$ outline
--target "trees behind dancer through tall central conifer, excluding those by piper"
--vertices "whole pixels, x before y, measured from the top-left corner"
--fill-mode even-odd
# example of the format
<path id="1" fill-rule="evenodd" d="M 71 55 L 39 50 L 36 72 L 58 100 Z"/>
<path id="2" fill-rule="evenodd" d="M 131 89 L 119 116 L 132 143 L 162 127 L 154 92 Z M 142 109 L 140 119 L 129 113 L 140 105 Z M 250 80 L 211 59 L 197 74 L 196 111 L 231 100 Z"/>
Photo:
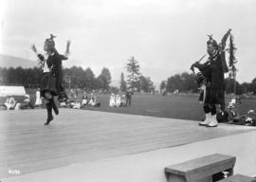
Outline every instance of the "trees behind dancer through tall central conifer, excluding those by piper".
<path id="1" fill-rule="evenodd" d="M 81 66 L 72 66 L 63 69 L 63 84 L 68 88 L 82 88 L 85 90 L 102 91 L 143 91 L 155 90 L 154 83 L 149 77 L 140 73 L 140 66 L 134 57 L 126 63 L 127 79 L 124 73 L 120 75 L 118 87 L 111 86 L 112 77 L 108 68 L 103 67 L 101 74 L 97 77 L 90 67 L 83 69 Z M 0 67 L 0 84 L 2 85 L 24 85 L 25 87 L 39 87 L 42 78 L 42 69 L 39 67 L 23 68 L 21 66 Z"/>

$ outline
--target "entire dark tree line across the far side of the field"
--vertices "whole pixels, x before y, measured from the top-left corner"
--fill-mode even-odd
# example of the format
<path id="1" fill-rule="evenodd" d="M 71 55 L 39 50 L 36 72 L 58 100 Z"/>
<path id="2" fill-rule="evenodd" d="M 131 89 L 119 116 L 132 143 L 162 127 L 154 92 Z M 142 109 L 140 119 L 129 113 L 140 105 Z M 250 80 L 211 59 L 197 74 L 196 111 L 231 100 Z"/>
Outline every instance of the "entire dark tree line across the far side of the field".
<path id="1" fill-rule="evenodd" d="M 63 83 L 65 87 L 76 87 L 85 90 L 104 90 L 109 91 L 127 91 L 133 92 L 153 92 L 155 91 L 154 82 L 150 77 L 145 77 L 140 72 L 140 66 L 135 59 L 131 57 L 126 63 L 127 76 L 125 79 L 124 73 L 120 74 L 120 82 L 118 87 L 110 85 L 112 82 L 111 73 L 108 68 L 103 67 L 101 74 L 96 77 L 90 67 L 83 69 L 81 66 L 72 66 L 64 68 Z M 0 84 L 21 84 L 25 87 L 37 86 L 39 87 L 42 78 L 42 69 L 39 67 L 22 68 L 22 67 L 0 67 Z M 256 78 L 252 82 L 243 82 L 240 84 L 235 80 L 235 77 L 229 75 L 225 80 L 226 92 L 235 94 L 256 93 Z M 195 75 L 187 72 L 175 74 L 162 81 L 160 84 L 161 92 L 198 92 L 198 85 L 195 82 Z"/>

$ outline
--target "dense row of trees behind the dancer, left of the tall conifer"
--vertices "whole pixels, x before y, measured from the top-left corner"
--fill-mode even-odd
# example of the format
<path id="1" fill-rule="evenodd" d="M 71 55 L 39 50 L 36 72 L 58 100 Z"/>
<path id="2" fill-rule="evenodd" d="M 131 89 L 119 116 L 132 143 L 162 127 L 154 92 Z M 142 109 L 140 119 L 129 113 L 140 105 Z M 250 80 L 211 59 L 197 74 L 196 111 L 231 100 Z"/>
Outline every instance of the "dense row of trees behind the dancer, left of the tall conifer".
<path id="1" fill-rule="evenodd" d="M 78 87 L 86 89 L 108 90 L 111 82 L 111 74 L 108 68 L 103 67 L 101 74 L 96 77 L 90 67 L 85 70 L 80 66 L 64 68 L 63 83 L 65 87 Z M 39 87 L 42 78 L 42 69 L 39 67 L 17 68 L 0 67 L 0 84 L 24 85 L 25 87 Z"/>

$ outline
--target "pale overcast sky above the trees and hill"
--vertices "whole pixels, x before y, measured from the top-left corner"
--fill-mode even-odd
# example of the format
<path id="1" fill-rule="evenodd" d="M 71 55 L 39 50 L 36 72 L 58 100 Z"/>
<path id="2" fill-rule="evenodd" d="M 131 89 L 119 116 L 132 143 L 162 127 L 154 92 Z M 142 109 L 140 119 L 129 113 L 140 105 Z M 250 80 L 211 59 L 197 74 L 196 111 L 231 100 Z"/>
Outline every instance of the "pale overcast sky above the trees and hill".
<path id="1" fill-rule="evenodd" d="M 154 82 L 184 71 L 206 53 L 207 34 L 218 42 L 232 28 L 238 47 L 238 82 L 256 77 L 255 0 L 2 0 L 0 53 L 36 60 L 49 34 L 71 56 L 64 66 L 103 66 L 113 80 L 135 56 Z M 229 44 L 228 44 L 229 45 Z"/>

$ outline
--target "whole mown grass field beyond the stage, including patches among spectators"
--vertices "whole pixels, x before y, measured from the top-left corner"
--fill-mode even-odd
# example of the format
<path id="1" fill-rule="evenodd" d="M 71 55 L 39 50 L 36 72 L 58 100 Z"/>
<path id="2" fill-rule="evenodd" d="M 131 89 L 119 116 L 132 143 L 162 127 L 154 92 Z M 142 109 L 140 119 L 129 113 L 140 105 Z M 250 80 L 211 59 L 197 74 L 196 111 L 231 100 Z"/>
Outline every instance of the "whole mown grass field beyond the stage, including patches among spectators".
<path id="1" fill-rule="evenodd" d="M 35 100 L 35 91 L 27 90 L 32 100 Z M 204 118 L 202 105 L 198 102 L 197 95 L 151 95 L 135 94 L 132 105 L 128 107 L 110 107 L 109 95 L 96 94 L 100 98 L 101 107 L 85 106 L 85 110 L 122 113 L 131 115 L 152 116 L 160 118 L 182 118 L 189 120 L 201 120 Z M 82 95 L 79 96 L 82 100 Z M 21 101 L 21 98 L 17 98 Z M 2 99 L 1 102 L 4 100 Z M 226 100 L 229 103 L 230 98 Z M 256 110 L 255 99 L 243 99 L 242 104 L 237 104 L 236 109 L 243 115 L 248 109 Z"/>

